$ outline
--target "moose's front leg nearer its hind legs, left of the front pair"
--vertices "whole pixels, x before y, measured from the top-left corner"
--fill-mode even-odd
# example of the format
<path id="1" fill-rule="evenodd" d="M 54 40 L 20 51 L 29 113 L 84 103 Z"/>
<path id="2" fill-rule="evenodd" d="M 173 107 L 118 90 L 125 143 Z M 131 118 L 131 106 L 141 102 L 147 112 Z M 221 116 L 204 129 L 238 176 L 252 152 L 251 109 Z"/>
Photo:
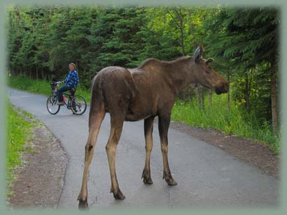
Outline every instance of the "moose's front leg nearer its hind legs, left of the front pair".
<path id="1" fill-rule="evenodd" d="M 149 117 L 148 119 L 144 120 L 144 136 L 146 138 L 146 165 L 144 167 L 143 174 L 141 175 L 141 178 L 144 178 L 144 184 L 153 184 L 150 167 L 151 150 L 153 149 L 153 119 L 154 117 Z"/>

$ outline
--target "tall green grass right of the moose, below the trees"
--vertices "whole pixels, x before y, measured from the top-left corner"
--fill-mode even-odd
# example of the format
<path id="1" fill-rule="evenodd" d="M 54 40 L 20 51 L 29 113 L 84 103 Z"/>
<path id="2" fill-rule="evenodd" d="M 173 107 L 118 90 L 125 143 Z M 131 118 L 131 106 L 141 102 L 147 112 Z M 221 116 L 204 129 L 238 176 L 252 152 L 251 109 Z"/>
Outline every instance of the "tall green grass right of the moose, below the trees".
<path id="1" fill-rule="evenodd" d="M 196 101 L 176 101 L 172 109 L 172 120 L 181 121 L 191 126 L 216 128 L 227 134 L 257 140 L 267 144 L 274 153 L 279 152 L 279 140 L 267 122 L 261 124 L 252 114 L 241 110 L 235 103 L 230 104 L 228 111 L 227 95 L 213 96 L 211 108 L 205 101 L 205 110 Z"/>

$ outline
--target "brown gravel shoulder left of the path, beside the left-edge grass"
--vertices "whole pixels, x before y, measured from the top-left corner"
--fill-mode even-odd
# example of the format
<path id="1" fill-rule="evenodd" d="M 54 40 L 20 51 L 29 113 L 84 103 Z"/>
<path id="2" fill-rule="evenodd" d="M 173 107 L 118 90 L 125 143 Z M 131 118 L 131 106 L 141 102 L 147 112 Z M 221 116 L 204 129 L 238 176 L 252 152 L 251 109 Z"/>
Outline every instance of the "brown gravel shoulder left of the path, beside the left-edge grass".
<path id="1" fill-rule="evenodd" d="M 22 154 L 23 164 L 15 170 L 8 207 L 57 207 L 59 202 L 67 156 L 43 124 L 38 122 L 33 133 L 27 142 L 29 149 Z"/>

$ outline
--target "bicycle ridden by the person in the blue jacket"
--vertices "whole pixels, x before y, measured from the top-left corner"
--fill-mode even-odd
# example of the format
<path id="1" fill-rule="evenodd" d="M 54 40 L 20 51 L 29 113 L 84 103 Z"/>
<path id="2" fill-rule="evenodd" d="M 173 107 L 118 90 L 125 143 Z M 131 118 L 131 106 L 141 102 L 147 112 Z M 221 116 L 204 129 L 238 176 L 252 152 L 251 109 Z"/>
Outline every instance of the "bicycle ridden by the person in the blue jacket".
<path id="1" fill-rule="evenodd" d="M 49 96 L 49 98 L 47 99 L 46 106 L 48 112 L 53 115 L 57 114 L 59 112 L 59 109 L 61 108 L 61 105 L 57 105 L 57 88 L 61 83 L 62 82 L 51 82 L 52 95 Z M 68 97 L 67 102 L 65 96 Z M 63 92 L 63 98 L 64 105 L 67 109 L 71 110 L 73 114 L 81 115 L 87 109 L 87 102 L 85 101 L 85 98 L 80 95 L 75 95 L 75 91 L 70 91 L 69 94 Z"/>

